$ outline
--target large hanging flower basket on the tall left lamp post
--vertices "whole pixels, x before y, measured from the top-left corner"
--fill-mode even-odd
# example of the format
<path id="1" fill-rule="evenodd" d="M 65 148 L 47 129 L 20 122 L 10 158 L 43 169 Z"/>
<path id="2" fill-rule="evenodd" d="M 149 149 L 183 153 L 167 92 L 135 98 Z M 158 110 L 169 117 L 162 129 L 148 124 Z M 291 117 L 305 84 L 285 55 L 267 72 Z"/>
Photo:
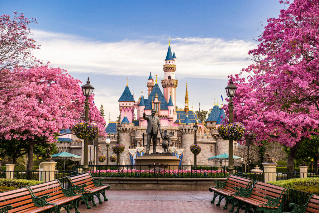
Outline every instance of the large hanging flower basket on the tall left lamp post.
<path id="1" fill-rule="evenodd" d="M 79 139 L 86 137 L 91 141 L 94 140 L 99 134 L 99 127 L 90 124 L 89 122 L 81 122 L 73 126 L 72 131 Z"/>

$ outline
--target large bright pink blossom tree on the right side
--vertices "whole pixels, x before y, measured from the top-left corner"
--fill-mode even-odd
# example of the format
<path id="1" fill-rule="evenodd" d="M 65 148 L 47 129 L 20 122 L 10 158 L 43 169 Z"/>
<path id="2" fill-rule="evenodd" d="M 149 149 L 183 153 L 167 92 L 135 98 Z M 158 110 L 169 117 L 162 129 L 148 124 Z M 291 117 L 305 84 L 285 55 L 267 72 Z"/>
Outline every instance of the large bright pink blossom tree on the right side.
<path id="1" fill-rule="evenodd" d="M 258 47 L 249 51 L 254 64 L 230 76 L 238 87 L 234 121 L 257 141 L 290 147 L 288 172 L 300 143 L 319 128 L 318 11 L 318 0 L 295 0 L 268 19 Z"/>

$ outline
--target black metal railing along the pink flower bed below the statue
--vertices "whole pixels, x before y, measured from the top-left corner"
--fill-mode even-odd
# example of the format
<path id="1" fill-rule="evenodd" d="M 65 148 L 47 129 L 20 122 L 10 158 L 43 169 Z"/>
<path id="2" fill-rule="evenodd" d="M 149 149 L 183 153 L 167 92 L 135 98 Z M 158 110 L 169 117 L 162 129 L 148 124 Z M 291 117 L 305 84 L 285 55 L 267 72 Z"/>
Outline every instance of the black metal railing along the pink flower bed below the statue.
<path id="1" fill-rule="evenodd" d="M 188 165 L 89 165 L 93 177 L 130 178 L 225 178 L 228 166 L 188 166 Z M 73 171 L 82 172 L 82 165 L 74 165 Z M 242 167 L 236 166 L 236 171 Z"/>

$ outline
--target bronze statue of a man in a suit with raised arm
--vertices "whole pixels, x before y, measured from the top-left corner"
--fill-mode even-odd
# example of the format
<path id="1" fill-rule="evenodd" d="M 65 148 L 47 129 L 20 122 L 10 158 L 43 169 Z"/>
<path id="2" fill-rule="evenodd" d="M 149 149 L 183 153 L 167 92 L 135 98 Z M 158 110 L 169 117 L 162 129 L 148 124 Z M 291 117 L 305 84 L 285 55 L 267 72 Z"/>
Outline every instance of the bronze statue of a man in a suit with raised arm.
<path id="1" fill-rule="evenodd" d="M 143 118 L 147 120 L 147 145 L 146 145 L 146 152 L 145 154 L 150 153 L 150 147 L 151 147 L 151 140 L 153 138 L 153 153 L 156 154 L 156 142 L 157 142 L 157 133 L 159 130 L 159 133 L 162 136 L 162 129 L 159 122 L 159 117 L 155 115 L 156 111 L 152 109 L 152 115 L 145 115 L 145 112 L 143 113 Z"/>

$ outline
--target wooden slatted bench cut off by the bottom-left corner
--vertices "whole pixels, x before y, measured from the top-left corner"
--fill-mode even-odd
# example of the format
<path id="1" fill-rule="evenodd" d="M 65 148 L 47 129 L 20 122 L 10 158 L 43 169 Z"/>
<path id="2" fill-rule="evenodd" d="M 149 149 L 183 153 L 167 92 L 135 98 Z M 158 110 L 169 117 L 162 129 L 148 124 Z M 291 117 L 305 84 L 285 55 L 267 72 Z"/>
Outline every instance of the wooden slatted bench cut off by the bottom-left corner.
<path id="1" fill-rule="evenodd" d="M 44 212 L 56 206 L 46 202 L 48 196 L 36 197 L 27 187 L 0 193 L 0 212 Z"/>

